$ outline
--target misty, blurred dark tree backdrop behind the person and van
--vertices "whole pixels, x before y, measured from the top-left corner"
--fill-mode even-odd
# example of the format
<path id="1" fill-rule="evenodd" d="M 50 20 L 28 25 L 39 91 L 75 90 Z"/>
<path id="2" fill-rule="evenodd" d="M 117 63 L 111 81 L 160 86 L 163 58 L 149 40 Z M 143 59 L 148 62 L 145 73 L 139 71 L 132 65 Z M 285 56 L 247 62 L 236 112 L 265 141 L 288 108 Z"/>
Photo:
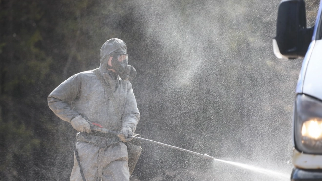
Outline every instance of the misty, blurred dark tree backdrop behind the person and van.
<path id="1" fill-rule="evenodd" d="M 68 180 L 72 128 L 49 110 L 47 95 L 98 67 L 113 37 L 127 43 L 138 71 L 142 137 L 286 167 L 301 62 L 272 54 L 278 2 L 0 0 L 0 181 Z M 308 25 L 318 4 L 307 0 Z M 198 180 L 211 164 L 142 147 L 133 179 Z"/>

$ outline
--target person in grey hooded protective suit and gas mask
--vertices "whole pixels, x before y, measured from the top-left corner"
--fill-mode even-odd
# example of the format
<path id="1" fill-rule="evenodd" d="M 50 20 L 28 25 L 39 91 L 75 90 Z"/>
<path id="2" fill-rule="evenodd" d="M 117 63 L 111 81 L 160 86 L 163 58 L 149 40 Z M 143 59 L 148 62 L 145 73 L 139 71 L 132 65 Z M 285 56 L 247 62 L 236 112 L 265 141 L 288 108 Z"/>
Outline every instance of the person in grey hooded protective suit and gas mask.
<path id="1" fill-rule="evenodd" d="M 70 122 L 77 134 L 71 181 L 129 181 L 128 152 L 140 113 L 128 80 L 136 70 L 128 65 L 123 40 L 112 38 L 101 47 L 100 67 L 62 82 L 48 96 L 50 109 Z M 117 136 L 91 130 L 92 123 L 120 132 Z"/>

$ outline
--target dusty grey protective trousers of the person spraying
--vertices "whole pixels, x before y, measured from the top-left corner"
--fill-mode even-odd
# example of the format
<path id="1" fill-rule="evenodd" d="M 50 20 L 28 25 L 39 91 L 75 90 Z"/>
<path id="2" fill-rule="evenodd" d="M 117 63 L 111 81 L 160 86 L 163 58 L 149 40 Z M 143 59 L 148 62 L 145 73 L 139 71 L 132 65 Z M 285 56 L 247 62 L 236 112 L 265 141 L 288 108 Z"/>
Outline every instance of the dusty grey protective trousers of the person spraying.
<path id="1" fill-rule="evenodd" d="M 128 154 L 124 143 L 100 148 L 91 143 L 77 142 L 76 148 L 86 181 L 96 181 L 98 177 L 100 181 L 129 181 Z M 82 181 L 75 154 L 70 180 Z"/>

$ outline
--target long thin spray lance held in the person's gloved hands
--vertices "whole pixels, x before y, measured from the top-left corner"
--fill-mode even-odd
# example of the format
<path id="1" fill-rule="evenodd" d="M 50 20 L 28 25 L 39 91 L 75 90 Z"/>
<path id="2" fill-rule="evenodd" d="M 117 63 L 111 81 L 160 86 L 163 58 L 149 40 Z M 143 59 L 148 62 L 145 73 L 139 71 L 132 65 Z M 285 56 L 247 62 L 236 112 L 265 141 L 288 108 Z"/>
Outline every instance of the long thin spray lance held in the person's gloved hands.
<path id="1" fill-rule="evenodd" d="M 100 131 L 102 133 L 110 133 L 110 134 L 114 134 L 114 135 L 119 134 L 116 131 L 111 131 L 111 130 L 105 129 L 100 124 L 96 124 L 96 123 L 92 123 L 92 122 L 91 122 L 91 130 Z M 209 156 L 207 154 L 197 153 L 197 152 L 194 152 L 194 151 L 186 150 L 186 149 L 179 148 L 179 147 L 176 147 L 176 146 L 171 146 L 171 145 L 164 144 L 164 143 L 161 143 L 161 142 L 157 142 L 157 141 L 153 141 L 153 140 L 149 140 L 149 139 L 145 139 L 145 138 L 141 138 L 141 137 L 135 137 L 135 136 L 132 136 L 132 138 L 133 139 L 138 139 L 140 141 L 146 141 L 146 142 L 150 142 L 150 143 L 153 143 L 153 144 L 158 144 L 158 145 L 161 145 L 161 146 L 164 146 L 164 147 L 180 150 L 180 151 L 183 151 L 183 152 L 192 153 L 194 155 L 201 156 L 202 158 L 205 158 L 205 159 L 209 159 L 209 160 L 214 160 L 215 159 L 214 157 L 211 157 L 211 156 Z"/>

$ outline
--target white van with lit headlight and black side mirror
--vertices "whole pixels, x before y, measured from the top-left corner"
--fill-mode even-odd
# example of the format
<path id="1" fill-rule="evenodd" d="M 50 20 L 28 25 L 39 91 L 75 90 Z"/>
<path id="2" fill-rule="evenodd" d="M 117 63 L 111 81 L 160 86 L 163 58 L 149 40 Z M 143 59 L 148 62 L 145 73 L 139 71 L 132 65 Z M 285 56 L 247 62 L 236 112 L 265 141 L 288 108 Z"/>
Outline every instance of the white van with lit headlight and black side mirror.
<path id="1" fill-rule="evenodd" d="M 282 0 L 278 9 L 274 53 L 304 57 L 296 87 L 293 117 L 292 181 L 322 181 L 322 1 L 316 23 L 306 27 L 303 0 Z"/>

